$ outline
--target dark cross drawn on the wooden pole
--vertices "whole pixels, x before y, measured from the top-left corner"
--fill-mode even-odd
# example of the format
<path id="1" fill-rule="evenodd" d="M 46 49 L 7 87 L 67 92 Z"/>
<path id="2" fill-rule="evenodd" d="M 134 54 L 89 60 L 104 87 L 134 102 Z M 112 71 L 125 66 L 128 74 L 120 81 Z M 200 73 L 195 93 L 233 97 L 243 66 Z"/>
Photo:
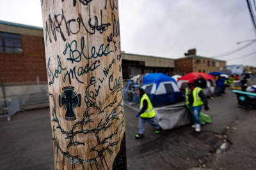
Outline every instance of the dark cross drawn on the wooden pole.
<path id="1" fill-rule="evenodd" d="M 59 105 L 67 108 L 65 120 L 76 120 L 73 109 L 81 106 L 81 95 L 74 92 L 74 87 L 63 87 L 63 92 L 59 95 Z"/>

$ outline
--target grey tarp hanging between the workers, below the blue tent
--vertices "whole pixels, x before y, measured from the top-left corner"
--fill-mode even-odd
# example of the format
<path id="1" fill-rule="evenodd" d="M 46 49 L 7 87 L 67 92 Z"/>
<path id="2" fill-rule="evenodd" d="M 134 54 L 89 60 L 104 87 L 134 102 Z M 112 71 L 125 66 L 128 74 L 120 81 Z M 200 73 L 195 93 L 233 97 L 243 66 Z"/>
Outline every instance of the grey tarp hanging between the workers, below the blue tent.
<path id="1" fill-rule="evenodd" d="M 183 103 L 162 106 L 154 108 L 154 110 L 156 111 L 156 120 L 164 130 L 191 124 L 191 114 Z"/>

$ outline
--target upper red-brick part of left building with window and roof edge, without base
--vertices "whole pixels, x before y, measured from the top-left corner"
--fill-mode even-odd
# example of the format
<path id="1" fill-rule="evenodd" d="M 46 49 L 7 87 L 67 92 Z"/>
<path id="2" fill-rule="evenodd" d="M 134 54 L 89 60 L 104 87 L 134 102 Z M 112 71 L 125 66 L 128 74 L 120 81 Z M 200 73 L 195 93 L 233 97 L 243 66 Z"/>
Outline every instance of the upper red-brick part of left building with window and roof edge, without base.
<path id="1" fill-rule="evenodd" d="M 0 83 L 47 81 L 43 29 L 0 21 Z"/>

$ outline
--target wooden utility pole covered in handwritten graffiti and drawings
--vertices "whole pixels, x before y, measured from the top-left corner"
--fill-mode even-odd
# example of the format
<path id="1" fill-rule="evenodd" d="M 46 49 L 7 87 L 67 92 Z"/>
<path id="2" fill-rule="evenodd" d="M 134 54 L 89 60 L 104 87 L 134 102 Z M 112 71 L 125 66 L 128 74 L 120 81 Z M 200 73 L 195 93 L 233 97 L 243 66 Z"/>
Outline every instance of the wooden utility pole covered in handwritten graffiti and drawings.
<path id="1" fill-rule="evenodd" d="M 126 169 L 118 1 L 41 4 L 55 169 Z"/>

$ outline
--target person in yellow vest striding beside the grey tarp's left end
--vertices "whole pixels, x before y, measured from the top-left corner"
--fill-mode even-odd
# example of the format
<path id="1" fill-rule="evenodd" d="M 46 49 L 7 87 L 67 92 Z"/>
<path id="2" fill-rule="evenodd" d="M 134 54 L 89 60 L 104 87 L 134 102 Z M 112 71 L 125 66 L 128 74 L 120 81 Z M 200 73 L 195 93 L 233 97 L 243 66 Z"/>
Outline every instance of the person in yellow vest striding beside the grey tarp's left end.
<path id="1" fill-rule="evenodd" d="M 143 132 L 146 122 L 156 128 L 156 134 L 160 134 L 160 127 L 156 122 L 156 113 L 150 99 L 141 88 L 137 90 L 137 94 L 140 96 L 140 112 L 136 114 L 136 117 L 139 117 L 139 133 L 136 134 L 135 138 L 140 139 L 144 137 Z"/>

